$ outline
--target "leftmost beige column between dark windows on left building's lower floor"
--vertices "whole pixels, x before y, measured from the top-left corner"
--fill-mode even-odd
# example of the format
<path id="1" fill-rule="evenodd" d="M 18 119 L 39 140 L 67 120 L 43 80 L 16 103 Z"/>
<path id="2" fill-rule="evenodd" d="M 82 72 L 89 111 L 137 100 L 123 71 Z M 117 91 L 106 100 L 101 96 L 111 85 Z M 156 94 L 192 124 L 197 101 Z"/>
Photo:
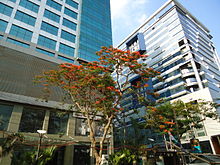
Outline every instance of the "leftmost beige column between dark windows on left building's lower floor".
<path id="1" fill-rule="evenodd" d="M 7 131 L 18 132 L 23 106 L 15 105 L 11 114 Z"/>

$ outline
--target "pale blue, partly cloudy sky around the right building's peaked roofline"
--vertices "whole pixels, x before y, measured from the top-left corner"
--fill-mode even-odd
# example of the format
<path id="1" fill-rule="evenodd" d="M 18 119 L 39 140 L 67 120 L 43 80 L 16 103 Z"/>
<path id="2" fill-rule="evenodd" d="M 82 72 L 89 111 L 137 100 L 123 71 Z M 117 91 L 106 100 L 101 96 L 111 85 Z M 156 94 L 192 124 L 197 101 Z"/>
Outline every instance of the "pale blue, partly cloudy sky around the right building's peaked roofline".
<path id="1" fill-rule="evenodd" d="M 167 0 L 110 0 L 113 45 L 116 47 Z M 220 0 L 178 0 L 213 36 L 220 56 Z"/>

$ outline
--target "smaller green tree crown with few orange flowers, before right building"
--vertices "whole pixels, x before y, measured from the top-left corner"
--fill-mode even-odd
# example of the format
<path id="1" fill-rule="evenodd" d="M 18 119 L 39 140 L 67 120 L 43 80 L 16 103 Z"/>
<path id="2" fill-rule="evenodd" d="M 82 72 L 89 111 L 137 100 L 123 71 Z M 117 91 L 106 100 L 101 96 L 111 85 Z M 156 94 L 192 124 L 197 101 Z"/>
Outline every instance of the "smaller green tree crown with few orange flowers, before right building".
<path id="1" fill-rule="evenodd" d="M 146 126 L 159 133 L 176 135 L 180 141 L 182 135 L 192 128 L 202 128 L 207 117 L 216 119 L 216 104 L 198 100 L 184 103 L 181 100 L 166 102 L 157 107 L 148 107 Z"/>

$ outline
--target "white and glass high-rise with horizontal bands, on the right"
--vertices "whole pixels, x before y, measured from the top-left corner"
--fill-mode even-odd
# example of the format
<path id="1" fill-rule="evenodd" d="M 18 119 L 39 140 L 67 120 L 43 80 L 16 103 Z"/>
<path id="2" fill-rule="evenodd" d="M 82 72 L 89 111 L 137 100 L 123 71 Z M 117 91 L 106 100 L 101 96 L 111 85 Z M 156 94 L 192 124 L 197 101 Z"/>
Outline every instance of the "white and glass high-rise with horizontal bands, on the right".
<path id="1" fill-rule="evenodd" d="M 118 47 L 149 55 L 145 63 L 160 71 L 164 80 L 152 80 L 160 98 L 219 103 L 219 57 L 211 39 L 207 27 L 176 0 L 169 0 Z M 207 119 L 203 125 L 194 134 L 215 152 L 213 138 L 219 135 L 220 124 Z M 183 141 L 189 139 L 183 136 Z"/>

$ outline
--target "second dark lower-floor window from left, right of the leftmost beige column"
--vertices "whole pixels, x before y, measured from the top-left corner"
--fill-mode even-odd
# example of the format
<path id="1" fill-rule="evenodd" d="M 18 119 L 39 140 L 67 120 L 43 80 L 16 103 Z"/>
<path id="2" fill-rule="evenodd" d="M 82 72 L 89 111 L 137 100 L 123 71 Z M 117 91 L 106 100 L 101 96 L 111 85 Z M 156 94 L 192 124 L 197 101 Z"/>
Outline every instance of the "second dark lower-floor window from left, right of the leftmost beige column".
<path id="1" fill-rule="evenodd" d="M 43 128 L 44 116 L 44 110 L 24 108 L 18 131 L 36 133 Z"/>

